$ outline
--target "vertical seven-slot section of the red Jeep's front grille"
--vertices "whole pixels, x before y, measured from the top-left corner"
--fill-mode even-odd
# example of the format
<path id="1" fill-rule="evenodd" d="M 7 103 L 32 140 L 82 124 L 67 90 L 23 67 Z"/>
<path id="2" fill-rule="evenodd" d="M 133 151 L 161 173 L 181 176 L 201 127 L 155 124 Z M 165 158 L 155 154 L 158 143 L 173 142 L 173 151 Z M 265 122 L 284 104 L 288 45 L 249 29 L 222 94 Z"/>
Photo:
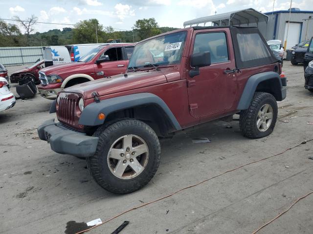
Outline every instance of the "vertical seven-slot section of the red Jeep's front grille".
<path id="1" fill-rule="evenodd" d="M 69 125 L 75 124 L 75 108 L 77 98 L 60 97 L 57 111 L 58 119 Z"/>

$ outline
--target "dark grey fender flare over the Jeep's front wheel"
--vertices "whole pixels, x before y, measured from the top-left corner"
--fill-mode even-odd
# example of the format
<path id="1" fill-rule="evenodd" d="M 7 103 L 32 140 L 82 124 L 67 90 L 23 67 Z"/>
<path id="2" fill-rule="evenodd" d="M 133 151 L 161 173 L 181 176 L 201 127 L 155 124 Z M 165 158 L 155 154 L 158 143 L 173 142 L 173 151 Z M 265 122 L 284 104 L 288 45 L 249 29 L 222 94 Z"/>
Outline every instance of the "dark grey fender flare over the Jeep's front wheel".
<path id="1" fill-rule="evenodd" d="M 173 127 L 176 130 L 181 130 L 179 122 L 166 103 L 161 98 L 151 93 L 131 94 L 116 98 L 108 98 L 100 102 L 93 102 L 84 108 L 78 123 L 87 126 L 102 125 L 105 119 L 100 120 L 98 118 L 100 113 L 105 114 L 107 117 L 111 113 L 117 111 L 149 104 L 160 107 L 167 115 Z"/>

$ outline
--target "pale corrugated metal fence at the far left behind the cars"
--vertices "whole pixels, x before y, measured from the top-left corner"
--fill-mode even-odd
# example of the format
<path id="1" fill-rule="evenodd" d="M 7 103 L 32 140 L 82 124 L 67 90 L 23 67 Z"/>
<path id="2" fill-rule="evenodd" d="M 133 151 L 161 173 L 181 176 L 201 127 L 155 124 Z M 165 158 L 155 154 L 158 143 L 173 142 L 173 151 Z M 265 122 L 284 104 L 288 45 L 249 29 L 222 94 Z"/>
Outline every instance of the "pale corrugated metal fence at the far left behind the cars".
<path id="1" fill-rule="evenodd" d="M 44 59 L 43 47 L 0 47 L 0 63 L 4 66 L 31 64 L 37 59 Z"/>

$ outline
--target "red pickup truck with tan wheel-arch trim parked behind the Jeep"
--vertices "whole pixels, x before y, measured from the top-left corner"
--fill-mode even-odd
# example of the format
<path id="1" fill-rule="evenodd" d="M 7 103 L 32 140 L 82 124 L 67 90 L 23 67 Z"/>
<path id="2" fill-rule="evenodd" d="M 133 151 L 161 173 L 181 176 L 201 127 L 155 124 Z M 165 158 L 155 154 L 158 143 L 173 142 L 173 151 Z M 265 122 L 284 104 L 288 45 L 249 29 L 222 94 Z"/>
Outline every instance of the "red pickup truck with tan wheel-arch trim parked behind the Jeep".
<path id="1" fill-rule="evenodd" d="M 92 49 L 78 62 L 47 67 L 39 72 L 42 97 L 55 99 L 63 88 L 90 80 L 123 74 L 133 53 L 133 43 L 105 44 Z"/>

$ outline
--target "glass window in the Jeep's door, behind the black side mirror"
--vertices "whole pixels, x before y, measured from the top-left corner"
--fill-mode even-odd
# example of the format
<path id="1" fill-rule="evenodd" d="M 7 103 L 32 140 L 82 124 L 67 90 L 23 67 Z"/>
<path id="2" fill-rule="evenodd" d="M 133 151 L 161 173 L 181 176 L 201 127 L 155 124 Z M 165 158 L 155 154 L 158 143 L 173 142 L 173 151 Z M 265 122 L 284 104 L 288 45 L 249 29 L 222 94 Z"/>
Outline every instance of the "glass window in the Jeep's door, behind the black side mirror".
<path id="1" fill-rule="evenodd" d="M 199 33 L 196 35 L 193 53 L 209 51 L 211 63 L 228 61 L 225 33 Z"/>

